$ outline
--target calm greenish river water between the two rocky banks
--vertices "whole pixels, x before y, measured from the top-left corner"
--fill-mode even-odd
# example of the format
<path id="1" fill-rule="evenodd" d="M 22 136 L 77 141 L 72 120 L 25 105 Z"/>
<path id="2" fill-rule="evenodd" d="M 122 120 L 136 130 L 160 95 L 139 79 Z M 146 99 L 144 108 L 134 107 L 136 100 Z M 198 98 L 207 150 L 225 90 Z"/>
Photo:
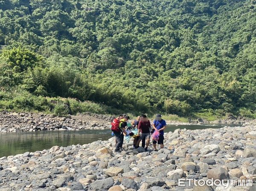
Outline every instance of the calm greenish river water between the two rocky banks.
<path id="1" fill-rule="evenodd" d="M 224 126 L 225 125 L 168 125 L 165 129 L 165 132 L 173 132 L 177 128 L 193 130 L 205 128 L 221 128 Z M 54 145 L 83 145 L 92 143 L 96 140 L 108 140 L 109 138 L 111 138 L 110 130 L 0 133 L 0 157 L 22 154 L 26 151 L 42 151 L 44 149 L 49 149 Z"/>

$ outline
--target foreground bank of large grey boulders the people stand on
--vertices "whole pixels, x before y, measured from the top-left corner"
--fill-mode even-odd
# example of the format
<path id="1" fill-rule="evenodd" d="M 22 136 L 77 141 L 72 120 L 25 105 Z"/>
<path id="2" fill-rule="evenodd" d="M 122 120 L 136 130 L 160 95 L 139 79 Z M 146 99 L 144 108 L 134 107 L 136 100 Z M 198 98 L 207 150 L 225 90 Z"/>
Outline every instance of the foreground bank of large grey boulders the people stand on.
<path id="1" fill-rule="evenodd" d="M 165 148 L 115 153 L 114 138 L 0 158 L 0 191 L 255 191 L 256 126 L 180 130 Z M 151 146 L 149 148 L 152 148 Z M 179 178 L 253 180 L 253 186 L 196 186 Z"/>

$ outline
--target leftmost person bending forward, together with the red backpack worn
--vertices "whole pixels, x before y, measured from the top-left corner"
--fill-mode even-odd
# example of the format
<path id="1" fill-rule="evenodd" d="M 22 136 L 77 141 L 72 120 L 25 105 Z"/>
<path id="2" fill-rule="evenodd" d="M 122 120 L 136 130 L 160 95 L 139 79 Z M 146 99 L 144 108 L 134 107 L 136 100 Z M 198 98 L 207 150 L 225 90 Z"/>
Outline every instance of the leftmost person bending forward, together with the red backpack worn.
<path id="1" fill-rule="evenodd" d="M 127 121 L 130 119 L 128 115 L 124 116 L 123 119 L 114 119 L 111 123 L 111 131 L 113 131 L 115 137 L 116 137 L 116 152 L 121 152 L 120 148 L 122 148 L 122 145 L 124 143 L 124 135 L 126 136 L 125 127 L 127 126 Z"/>

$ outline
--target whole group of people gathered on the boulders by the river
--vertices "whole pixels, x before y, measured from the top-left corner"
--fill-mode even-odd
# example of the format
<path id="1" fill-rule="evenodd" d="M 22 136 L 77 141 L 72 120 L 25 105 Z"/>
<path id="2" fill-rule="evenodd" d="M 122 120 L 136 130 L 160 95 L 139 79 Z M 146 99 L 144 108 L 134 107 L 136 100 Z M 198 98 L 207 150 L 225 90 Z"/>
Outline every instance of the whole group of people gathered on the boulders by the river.
<path id="1" fill-rule="evenodd" d="M 163 148 L 163 135 L 164 129 L 166 128 L 166 121 L 162 119 L 160 114 L 156 115 L 153 123 L 150 123 L 145 114 L 138 116 L 137 119 L 133 120 L 131 123 L 128 122 L 130 117 L 126 114 L 120 115 L 116 120 L 118 120 L 119 128 L 112 130 L 116 137 L 116 152 L 122 151 L 125 136 L 134 137 L 133 148 L 139 148 L 140 142 L 142 141 L 142 147 L 145 148 L 145 151 L 148 151 L 150 137 L 154 131 L 159 132 L 158 140 L 153 140 L 154 150 L 157 151 L 157 144 L 160 145 L 160 148 Z"/>

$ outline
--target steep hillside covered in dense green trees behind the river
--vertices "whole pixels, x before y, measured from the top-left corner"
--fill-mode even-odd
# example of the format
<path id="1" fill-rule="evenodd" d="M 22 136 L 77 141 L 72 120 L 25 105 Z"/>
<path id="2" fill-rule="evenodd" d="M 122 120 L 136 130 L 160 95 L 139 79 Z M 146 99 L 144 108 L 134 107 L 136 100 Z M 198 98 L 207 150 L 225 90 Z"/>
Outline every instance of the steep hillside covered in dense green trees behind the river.
<path id="1" fill-rule="evenodd" d="M 256 0 L 0 0 L 0 51 L 1 109 L 256 116 Z"/>

